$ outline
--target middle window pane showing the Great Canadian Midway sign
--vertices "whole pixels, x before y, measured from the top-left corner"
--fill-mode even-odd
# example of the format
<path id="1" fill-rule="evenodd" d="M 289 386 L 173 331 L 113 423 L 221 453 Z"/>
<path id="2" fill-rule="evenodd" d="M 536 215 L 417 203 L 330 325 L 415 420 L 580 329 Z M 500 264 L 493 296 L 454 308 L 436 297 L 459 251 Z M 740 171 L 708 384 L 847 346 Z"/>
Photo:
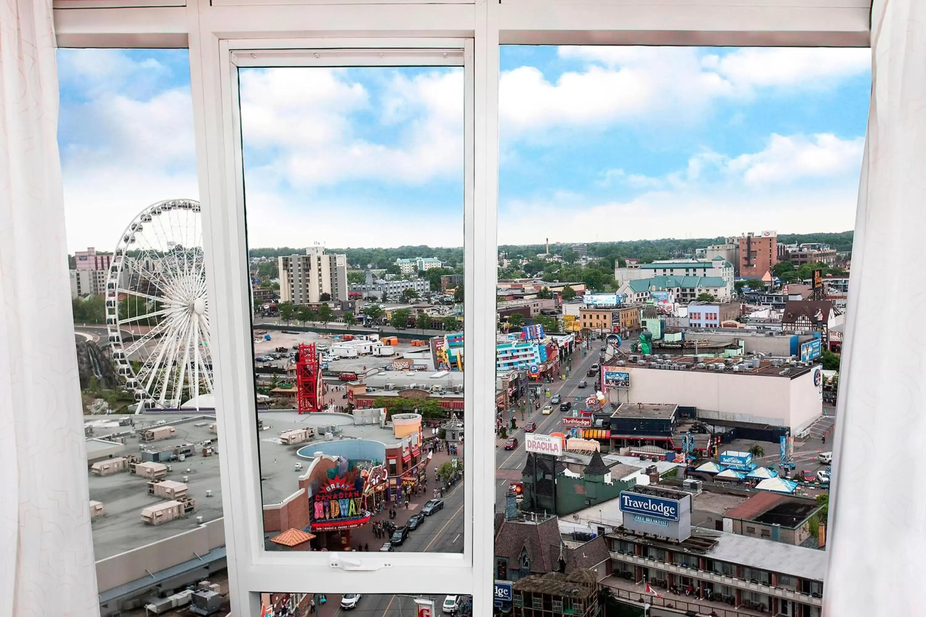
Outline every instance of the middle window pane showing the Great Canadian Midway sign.
<path id="1" fill-rule="evenodd" d="M 265 548 L 462 551 L 463 69 L 239 79 Z"/>

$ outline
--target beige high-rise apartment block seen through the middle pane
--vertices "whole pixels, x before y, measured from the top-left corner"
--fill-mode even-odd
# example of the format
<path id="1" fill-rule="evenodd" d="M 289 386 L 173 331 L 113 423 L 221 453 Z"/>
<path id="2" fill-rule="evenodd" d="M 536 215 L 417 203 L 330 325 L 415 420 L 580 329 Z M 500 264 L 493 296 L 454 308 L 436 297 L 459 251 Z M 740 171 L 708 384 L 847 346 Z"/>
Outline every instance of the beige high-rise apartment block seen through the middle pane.
<path id="1" fill-rule="evenodd" d="M 278 257 L 280 302 L 315 304 L 327 293 L 332 301 L 347 300 L 347 255 L 326 254 L 313 246 L 306 254 Z"/>

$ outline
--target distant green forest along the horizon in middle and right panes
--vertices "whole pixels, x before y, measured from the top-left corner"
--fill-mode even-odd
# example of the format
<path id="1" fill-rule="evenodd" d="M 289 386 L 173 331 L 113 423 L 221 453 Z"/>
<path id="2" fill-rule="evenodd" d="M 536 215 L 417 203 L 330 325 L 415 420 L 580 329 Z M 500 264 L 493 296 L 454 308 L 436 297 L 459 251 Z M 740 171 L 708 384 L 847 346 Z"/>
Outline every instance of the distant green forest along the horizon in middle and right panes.
<path id="1" fill-rule="evenodd" d="M 852 231 L 840 233 L 789 233 L 780 234 L 778 241 L 785 244 L 802 242 L 825 242 L 839 253 L 852 251 Z M 711 244 L 719 244 L 724 238 L 664 238 L 661 240 L 635 240 L 619 242 L 588 242 L 588 255 L 603 262 L 602 265 L 613 267 L 615 260 L 635 257 L 643 262 L 657 259 L 674 259 L 693 255 L 695 250 L 703 249 Z M 571 263 L 577 255 L 572 250 L 572 242 L 556 242 L 550 244 L 550 251 L 563 255 Z M 502 244 L 498 247 L 499 253 L 507 253 L 508 257 L 532 257 L 544 253 L 544 244 Z M 305 248 L 293 249 L 262 248 L 251 249 L 251 257 L 279 257 L 294 253 L 304 253 Z M 409 257 L 437 257 L 450 269 L 456 269 L 463 263 L 463 247 L 432 248 L 427 245 L 400 246 L 394 249 L 338 249 L 325 248 L 326 253 L 344 253 L 351 268 L 385 269 L 395 263 L 396 259 Z"/>

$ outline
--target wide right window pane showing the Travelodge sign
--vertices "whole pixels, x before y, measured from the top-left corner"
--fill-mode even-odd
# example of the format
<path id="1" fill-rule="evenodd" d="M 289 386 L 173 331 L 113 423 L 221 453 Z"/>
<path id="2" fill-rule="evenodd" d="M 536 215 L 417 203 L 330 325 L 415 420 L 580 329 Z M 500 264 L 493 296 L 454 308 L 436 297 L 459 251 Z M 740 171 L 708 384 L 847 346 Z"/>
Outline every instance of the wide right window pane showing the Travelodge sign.
<path id="1" fill-rule="evenodd" d="M 514 611 L 819 613 L 869 51 L 507 46 L 499 85 Z"/>

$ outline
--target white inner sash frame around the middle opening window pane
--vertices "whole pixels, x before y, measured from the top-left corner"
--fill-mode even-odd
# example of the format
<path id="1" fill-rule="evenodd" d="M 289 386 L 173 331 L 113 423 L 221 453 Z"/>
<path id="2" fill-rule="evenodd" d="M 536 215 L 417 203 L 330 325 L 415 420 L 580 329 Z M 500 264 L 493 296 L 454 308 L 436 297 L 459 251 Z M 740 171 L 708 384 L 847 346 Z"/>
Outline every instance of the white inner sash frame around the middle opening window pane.
<path id="1" fill-rule="evenodd" d="M 223 475 L 234 477 L 230 483 L 235 561 L 249 566 L 240 573 L 240 589 L 257 595 L 259 592 L 325 592 L 350 593 L 362 589 L 363 593 L 415 593 L 421 590 L 421 581 L 428 580 L 426 588 L 442 593 L 467 593 L 472 587 L 473 518 L 463 517 L 462 553 L 342 553 L 332 552 L 267 552 L 264 551 L 263 512 L 260 500 L 260 478 L 257 450 L 257 417 L 254 399 L 253 351 L 251 311 L 249 306 L 249 277 L 245 248 L 244 222 L 244 167 L 242 161 L 241 117 L 239 110 L 238 68 L 249 67 L 302 67 L 302 66 L 455 66 L 464 69 L 464 165 L 460 170 L 464 181 L 464 228 L 466 281 L 475 289 L 472 272 L 474 263 L 494 258 L 494 244 L 476 243 L 473 221 L 477 220 L 473 202 L 473 126 L 472 126 L 472 40 L 471 39 L 215 39 L 218 43 L 219 97 L 212 93 L 198 99 L 194 105 L 204 105 L 207 114 L 220 122 L 220 134 L 207 137 L 206 148 L 219 154 L 224 165 L 215 170 L 218 183 L 209 182 L 203 187 L 208 198 L 202 199 L 204 220 L 204 248 L 213 255 L 210 281 L 219 290 L 210 298 L 213 306 L 225 310 L 213 313 L 213 327 L 218 333 L 213 345 L 216 359 L 217 410 L 223 423 L 222 444 Z M 215 124 L 215 122 L 214 122 Z M 217 126 L 217 128 L 219 128 Z M 210 172 L 212 170 L 210 169 Z M 211 176 L 211 173 L 210 173 Z M 231 199 L 226 195 L 233 196 Z M 221 204 L 219 207 L 208 204 Z M 219 256 L 217 259 L 216 256 Z M 493 288 L 494 292 L 494 288 Z M 211 291 L 210 291 L 211 293 Z M 468 294 L 474 296 L 474 294 Z M 468 297 L 467 355 L 478 353 L 475 341 L 477 325 L 485 315 L 478 315 L 473 297 Z M 483 313 L 485 313 L 483 311 Z M 469 324 L 472 322 L 472 325 Z M 484 338 L 484 337 L 483 337 Z M 482 341 L 484 347 L 494 336 Z M 473 344 L 470 344 L 473 343 Z M 219 377 L 221 376 L 221 377 Z M 486 396 L 494 399 L 491 388 L 480 388 L 474 379 L 475 372 L 465 376 L 465 417 L 476 415 L 477 404 Z M 494 382 L 492 384 L 494 386 Z M 232 411 L 234 410 L 234 411 Z M 221 438 L 221 437 L 220 437 Z M 476 477 L 494 470 L 481 470 L 479 450 L 490 449 L 491 441 L 469 439 L 464 443 L 464 459 L 468 461 L 468 475 Z M 470 458 L 475 462 L 469 464 Z M 226 472 L 227 470 L 227 472 Z M 223 483 L 223 491 L 226 490 Z M 472 504 L 473 483 L 464 483 L 464 503 Z M 224 493 L 223 493 L 224 497 Z M 490 504 L 491 507 L 492 504 Z M 471 507 L 471 506 L 470 506 Z M 228 529 L 228 524 L 226 524 Z M 481 530 L 484 532 L 484 530 Z M 491 535 L 491 534 L 490 534 Z M 351 561 L 362 564 L 364 571 L 351 571 L 345 575 L 334 561 Z M 386 565 L 388 564 L 388 565 Z M 311 568 L 311 578 L 307 578 Z"/>

